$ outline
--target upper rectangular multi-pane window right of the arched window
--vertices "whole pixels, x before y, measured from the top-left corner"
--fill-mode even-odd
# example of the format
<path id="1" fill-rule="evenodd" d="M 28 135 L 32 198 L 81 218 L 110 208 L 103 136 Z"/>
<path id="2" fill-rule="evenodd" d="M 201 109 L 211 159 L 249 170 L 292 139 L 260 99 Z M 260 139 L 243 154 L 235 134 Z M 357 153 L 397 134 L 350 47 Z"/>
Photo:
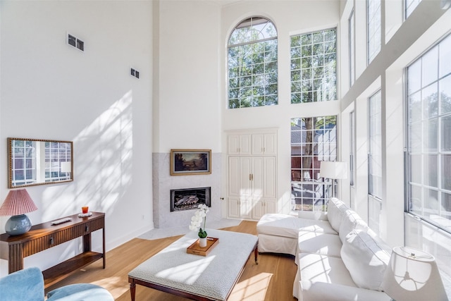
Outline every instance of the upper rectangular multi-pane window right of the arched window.
<path id="1" fill-rule="evenodd" d="M 291 37 L 291 103 L 337 99 L 337 30 Z"/>

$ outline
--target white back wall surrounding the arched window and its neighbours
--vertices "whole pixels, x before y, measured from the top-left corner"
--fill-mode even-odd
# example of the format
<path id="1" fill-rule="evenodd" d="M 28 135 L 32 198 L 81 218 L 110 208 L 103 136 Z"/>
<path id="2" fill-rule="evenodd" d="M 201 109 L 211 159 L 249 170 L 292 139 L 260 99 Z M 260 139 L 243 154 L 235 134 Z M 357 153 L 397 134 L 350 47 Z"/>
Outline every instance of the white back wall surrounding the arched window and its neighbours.
<path id="1" fill-rule="evenodd" d="M 339 1 L 240 1 L 224 6 L 221 13 L 221 110 L 223 130 L 278 128 L 278 210 L 290 211 L 291 118 L 339 115 L 340 102 L 290 104 L 290 35 L 336 27 Z M 278 105 L 227 109 L 227 44 L 233 28 L 250 16 L 264 16 L 278 30 Z M 227 153 L 226 133 L 223 154 Z M 223 156 L 224 160 L 226 156 Z M 223 166 L 227 166 L 223 161 Z M 226 168 L 224 176 L 226 178 Z M 226 183 L 223 181 L 223 191 Z"/>

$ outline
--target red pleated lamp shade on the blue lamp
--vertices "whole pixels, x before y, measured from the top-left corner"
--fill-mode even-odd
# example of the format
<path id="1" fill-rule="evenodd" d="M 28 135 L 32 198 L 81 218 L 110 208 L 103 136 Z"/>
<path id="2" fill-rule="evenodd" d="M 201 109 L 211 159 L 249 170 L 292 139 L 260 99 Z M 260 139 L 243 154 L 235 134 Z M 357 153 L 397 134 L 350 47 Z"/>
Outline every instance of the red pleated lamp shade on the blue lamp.
<path id="1" fill-rule="evenodd" d="M 36 210 L 37 207 L 27 190 L 10 190 L 0 207 L 0 216 L 15 216 Z"/>

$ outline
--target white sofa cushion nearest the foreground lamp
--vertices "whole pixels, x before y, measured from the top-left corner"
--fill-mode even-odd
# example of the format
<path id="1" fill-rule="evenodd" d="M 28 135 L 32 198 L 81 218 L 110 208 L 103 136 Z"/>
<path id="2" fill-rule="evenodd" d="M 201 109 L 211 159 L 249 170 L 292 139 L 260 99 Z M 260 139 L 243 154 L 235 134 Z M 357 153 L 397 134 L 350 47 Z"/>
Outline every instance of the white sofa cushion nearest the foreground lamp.
<path id="1" fill-rule="evenodd" d="M 341 258 L 359 288 L 382 290 L 390 254 L 365 231 L 351 231 L 343 240 Z"/>

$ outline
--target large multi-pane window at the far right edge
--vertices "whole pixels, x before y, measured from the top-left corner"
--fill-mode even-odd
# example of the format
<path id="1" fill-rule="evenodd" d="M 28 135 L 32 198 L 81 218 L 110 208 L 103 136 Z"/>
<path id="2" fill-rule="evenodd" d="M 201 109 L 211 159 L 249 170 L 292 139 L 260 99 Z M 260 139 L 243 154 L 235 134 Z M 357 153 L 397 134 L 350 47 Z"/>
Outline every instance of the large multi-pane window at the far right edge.
<path id="1" fill-rule="evenodd" d="M 407 68 L 407 211 L 451 219 L 451 35 Z"/>

